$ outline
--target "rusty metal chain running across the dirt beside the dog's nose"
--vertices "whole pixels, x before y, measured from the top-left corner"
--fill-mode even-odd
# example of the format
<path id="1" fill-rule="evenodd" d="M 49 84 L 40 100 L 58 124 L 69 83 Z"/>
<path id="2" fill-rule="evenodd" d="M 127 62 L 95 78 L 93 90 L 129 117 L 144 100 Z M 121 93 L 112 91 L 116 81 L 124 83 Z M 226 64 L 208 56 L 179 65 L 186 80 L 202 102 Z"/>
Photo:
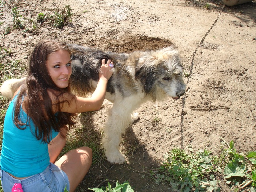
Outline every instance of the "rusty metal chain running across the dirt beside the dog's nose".
<path id="1" fill-rule="evenodd" d="M 200 43 L 197 44 L 195 51 L 189 56 L 188 60 L 184 63 L 184 64 L 186 64 L 186 63 L 192 58 L 191 66 L 189 67 L 190 75 L 188 76 L 188 82 L 187 82 L 187 84 L 189 83 L 189 80 L 190 80 L 190 78 L 191 78 L 191 76 L 192 76 L 192 69 L 193 69 L 193 65 L 194 65 L 194 57 L 195 57 L 195 55 L 196 55 L 196 51 L 197 51 L 197 49 L 198 49 L 199 47 L 201 47 L 202 43 L 204 42 L 205 37 L 209 34 L 209 32 L 211 31 L 211 29 L 213 28 L 213 26 L 215 25 L 215 23 L 216 23 L 217 20 L 219 19 L 220 15 L 221 15 L 221 13 L 222 13 L 222 11 L 223 11 L 223 9 L 224 9 L 224 7 L 225 7 L 225 5 L 223 5 L 223 7 L 222 7 L 222 9 L 221 9 L 221 11 L 220 11 L 220 13 L 219 13 L 219 15 L 217 16 L 217 18 L 215 19 L 215 21 L 212 23 L 212 26 L 209 28 L 209 30 L 205 33 L 205 35 L 204 35 L 204 37 L 202 38 L 202 40 L 200 41 Z M 182 98 L 182 108 L 181 108 L 181 110 L 182 110 L 182 111 L 181 111 L 181 121 L 180 121 L 180 127 L 181 127 L 181 130 L 180 130 L 181 149 L 184 149 L 184 146 L 183 146 L 183 142 L 184 142 L 184 141 L 183 141 L 183 126 L 184 126 L 184 124 L 183 124 L 183 119 L 184 119 L 184 115 L 186 114 L 186 112 L 184 111 L 184 109 L 185 109 L 185 98 L 186 98 L 186 92 L 185 92 L 185 94 L 183 95 L 183 98 Z"/>

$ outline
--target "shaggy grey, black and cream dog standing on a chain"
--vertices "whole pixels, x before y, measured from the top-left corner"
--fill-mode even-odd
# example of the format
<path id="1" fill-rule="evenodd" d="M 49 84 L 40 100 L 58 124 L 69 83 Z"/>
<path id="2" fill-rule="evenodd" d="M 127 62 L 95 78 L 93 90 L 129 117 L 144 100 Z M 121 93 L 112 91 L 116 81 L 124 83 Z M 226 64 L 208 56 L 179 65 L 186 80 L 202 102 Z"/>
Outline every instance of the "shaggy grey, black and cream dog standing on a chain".
<path id="1" fill-rule="evenodd" d="M 135 51 L 130 54 L 104 52 L 98 49 L 68 44 L 71 50 L 71 88 L 76 95 L 86 96 L 95 90 L 101 60 L 114 62 L 113 75 L 108 81 L 106 99 L 113 103 L 105 124 L 103 146 L 110 163 L 125 161 L 119 151 L 121 135 L 138 114 L 133 111 L 147 101 L 172 97 L 177 100 L 185 93 L 183 66 L 178 51 L 166 47 L 156 51 Z M 5 97 L 12 97 L 17 84 L 24 79 L 7 80 L 0 88 Z M 15 88 L 14 88 L 15 87 Z"/>

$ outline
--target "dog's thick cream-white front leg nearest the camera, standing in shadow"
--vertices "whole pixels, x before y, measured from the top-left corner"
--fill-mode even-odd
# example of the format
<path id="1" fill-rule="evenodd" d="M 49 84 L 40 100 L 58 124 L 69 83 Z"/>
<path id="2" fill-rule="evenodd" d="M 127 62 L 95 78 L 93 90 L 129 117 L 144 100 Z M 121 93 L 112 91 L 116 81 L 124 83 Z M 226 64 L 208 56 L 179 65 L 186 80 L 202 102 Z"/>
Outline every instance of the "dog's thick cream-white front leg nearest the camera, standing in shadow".
<path id="1" fill-rule="evenodd" d="M 131 124 L 131 112 L 127 108 L 120 105 L 113 105 L 109 111 L 108 120 L 105 125 L 105 137 L 103 138 L 103 146 L 107 160 L 113 164 L 122 164 L 125 162 L 124 155 L 119 151 L 121 135 L 125 129 Z"/>

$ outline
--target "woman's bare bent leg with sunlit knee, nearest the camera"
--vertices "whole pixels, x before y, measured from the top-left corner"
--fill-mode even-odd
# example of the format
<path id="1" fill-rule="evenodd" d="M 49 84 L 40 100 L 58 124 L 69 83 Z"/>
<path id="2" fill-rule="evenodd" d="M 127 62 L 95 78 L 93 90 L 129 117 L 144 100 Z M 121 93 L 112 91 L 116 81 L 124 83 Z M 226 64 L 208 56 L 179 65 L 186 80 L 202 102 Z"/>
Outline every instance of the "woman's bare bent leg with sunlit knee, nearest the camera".
<path id="1" fill-rule="evenodd" d="M 70 192 L 75 191 L 88 172 L 91 164 L 92 149 L 89 147 L 80 147 L 68 151 L 68 153 L 55 162 L 55 165 L 67 174 L 70 183 Z"/>

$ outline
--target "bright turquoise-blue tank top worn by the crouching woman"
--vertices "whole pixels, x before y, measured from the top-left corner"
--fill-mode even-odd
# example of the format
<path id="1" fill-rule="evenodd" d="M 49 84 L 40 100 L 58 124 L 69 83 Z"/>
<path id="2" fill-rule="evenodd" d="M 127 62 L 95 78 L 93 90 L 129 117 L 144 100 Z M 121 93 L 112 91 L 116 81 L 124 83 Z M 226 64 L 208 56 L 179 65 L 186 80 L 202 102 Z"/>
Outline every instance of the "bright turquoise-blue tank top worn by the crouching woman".
<path id="1" fill-rule="evenodd" d="M 48 144 L 36 139 L 35 125 L 31 119 L 28 122 L 30 127 L 22 130 L 15 126 L 13 109 L 16 97 L 11 101 L 4 119 L 0 166 L 16 177 L 28 177 L 43 172 L 50 163 L 50 157 Z M 27 121 L 27 114 L 22 108 L 20 119 L 24 123 Z M 58 133 L 52 131 L 52 138 Z"/>

